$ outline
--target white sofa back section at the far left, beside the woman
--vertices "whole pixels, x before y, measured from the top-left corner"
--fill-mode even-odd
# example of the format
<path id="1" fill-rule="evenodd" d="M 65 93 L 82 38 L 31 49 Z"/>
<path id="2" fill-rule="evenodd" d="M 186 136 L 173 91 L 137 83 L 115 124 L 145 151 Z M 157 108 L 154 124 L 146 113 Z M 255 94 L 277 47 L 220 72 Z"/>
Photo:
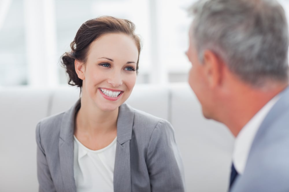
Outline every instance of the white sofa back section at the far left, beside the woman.
<path id="1" fill-rule="evenodd" d="M 47 116 L 49 90 L 0 89 L 0 191 L 37 191 L 37 122 Z"/>

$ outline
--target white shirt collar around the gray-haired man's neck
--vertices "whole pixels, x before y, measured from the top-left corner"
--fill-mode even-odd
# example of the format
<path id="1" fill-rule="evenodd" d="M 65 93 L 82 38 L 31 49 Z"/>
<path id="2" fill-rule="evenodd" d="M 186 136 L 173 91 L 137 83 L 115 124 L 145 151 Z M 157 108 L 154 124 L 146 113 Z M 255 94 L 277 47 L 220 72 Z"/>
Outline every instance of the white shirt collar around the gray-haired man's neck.
<path id="1" fill-rule="evenodd" d="M 270 109 L 279 99 L 279 94 L 273 97 L 266 105 L 260 109 L 248 123 L 241 129 L 236 137 L 233 150 L 233 163 L 238 174 L 243 174 L 252 142 L 262 121 L 269 113 Z"/>

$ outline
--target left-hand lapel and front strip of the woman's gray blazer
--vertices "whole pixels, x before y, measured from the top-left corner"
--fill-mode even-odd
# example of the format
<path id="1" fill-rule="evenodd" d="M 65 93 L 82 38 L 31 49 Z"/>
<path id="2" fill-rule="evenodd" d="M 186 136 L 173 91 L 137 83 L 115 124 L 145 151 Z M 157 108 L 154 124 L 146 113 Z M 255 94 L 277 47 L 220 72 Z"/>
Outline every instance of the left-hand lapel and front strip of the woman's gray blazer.
<path id="1" fill-rule="evenodd" d="M 60 171 L 66 192 L 76 192 L 73 172 L 73 134 L 75 126 L 75 109 L 79 106 L 80 100 L 64 114 L 60 128 Z"/>

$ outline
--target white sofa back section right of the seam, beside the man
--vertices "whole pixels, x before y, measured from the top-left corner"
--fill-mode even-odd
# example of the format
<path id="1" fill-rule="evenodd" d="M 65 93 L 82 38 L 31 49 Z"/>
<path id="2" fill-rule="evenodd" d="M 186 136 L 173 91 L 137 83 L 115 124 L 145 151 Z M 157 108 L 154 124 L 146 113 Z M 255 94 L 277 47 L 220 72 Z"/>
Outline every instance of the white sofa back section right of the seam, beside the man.
<path id="1" fill-rule="evenodd" d="M 203 117 L 187 83 L 171 85 L 171 123 L 181 151 L 188 191 L 227 191 L 234 137 Z"/>

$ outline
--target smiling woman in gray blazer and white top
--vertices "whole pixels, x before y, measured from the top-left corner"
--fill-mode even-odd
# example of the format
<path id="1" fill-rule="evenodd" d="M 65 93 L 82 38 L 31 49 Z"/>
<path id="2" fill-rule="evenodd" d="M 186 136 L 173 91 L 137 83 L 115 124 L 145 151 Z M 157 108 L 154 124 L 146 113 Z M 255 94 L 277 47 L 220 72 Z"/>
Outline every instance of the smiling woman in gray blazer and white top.
<path id="1" fill-rule="evenodd" d="M 184 191 L 171 124 L 124 103 L 141 49 L 134 28 L 110 16 L 88 20 L 62 56 L 81 97 L 37 125 L 39 191 Z"/>

